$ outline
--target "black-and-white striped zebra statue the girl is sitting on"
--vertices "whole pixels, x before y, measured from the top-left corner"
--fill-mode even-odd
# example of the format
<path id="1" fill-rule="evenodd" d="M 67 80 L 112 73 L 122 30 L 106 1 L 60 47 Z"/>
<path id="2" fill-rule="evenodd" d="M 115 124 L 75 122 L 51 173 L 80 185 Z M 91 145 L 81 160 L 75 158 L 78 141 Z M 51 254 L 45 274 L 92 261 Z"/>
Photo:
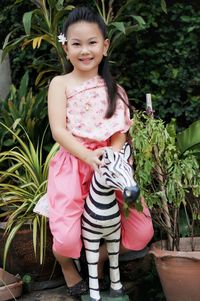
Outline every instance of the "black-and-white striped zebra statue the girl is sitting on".
<path id="1" fill-rule="evenodd" d="M 119 246 L 121 217 L 115 190 L 123 192 L 124 199 L 133 203 L 139 196 L 139 187 L 128 163 L 131 147 L 126 143 L 120 152 L 106 148 L 102 166 L 94 172 L 90 191 L 82 215 L 82 238 L 85 246 L 89 272 L 90 301 L 100 301 L 98 283 L 98 260 L 100 240 L 106 241 L 110 263 L 110 297 L 124 294 L 120 282 Z"/>

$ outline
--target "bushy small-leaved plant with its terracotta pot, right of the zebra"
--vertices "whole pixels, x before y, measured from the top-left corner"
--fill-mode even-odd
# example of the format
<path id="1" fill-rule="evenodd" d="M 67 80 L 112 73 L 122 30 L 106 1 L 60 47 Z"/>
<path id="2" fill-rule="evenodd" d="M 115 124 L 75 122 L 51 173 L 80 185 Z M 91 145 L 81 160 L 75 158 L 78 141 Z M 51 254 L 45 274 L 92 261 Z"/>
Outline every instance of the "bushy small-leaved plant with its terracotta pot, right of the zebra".
<path id="1" fill-rule="evenodd" d="M 165 124 L 153 117 L 151 107 L 147 112 L 135 112 L 130 129 L 136 179 L 163 235 L 152 244 L 150 253 L 167 301 L 199 300 L 199 133 L 198 122 L 177 134 L 175 120 Z"/>

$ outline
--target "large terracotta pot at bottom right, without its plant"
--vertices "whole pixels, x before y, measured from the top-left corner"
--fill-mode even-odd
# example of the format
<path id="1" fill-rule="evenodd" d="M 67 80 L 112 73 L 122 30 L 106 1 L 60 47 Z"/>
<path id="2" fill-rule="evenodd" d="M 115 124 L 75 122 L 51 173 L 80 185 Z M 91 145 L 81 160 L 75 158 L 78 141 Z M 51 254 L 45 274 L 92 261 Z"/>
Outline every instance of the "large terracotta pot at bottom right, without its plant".
<path id="1" fill-rule="evenodd" d="M 181 251 L 167 251 L 166 242 L 152 244 L 156 268 L 167 301 L 200 300 L 200 238 L 194 239 L 191 251 L 190 238 L 180 239 Z"/>

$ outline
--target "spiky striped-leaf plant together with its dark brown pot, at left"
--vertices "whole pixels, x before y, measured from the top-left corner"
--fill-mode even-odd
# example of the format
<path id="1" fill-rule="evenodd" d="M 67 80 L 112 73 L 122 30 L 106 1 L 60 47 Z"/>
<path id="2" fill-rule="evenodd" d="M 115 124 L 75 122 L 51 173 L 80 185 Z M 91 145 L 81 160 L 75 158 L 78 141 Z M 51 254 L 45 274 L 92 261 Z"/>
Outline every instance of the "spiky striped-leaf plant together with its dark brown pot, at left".
<path id="1" fill-rule="evenodd" d="M 37 280 L 40 273 L 48 273 L 50 277 L 55 264 L 52 237 L 48 235 L 46 217 L 33 212 L 33 208 L 46 192 L 49 161 L 58 145 L 54 144 L 44 159 L 44 135 L 34 147 L 25 129 L 22 128 L 22 140 L 5 124 L 0 123 L 0 127 L 17 141 L 10 150 L 0 152 L 1 261 L 4 268 L 21 277 L 30 274 Z M 48 271 L 44 271 L 45 267 Z"/>

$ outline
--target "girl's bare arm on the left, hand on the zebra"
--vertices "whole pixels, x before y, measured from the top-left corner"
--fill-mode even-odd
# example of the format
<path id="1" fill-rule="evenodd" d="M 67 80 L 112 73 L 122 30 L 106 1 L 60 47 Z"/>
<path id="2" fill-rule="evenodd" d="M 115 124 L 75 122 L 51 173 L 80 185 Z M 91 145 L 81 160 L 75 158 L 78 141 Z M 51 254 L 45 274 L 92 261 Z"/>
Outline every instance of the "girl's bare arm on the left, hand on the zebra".
<path id="1" fill-rule="evenodd" d="M 48 116 L 54 140 L 75 157 L 97 169 L 103 148 L 95 151 L 87 149 L 66 129 L 66 77 L 55 77 L 48 90 Z"/>

